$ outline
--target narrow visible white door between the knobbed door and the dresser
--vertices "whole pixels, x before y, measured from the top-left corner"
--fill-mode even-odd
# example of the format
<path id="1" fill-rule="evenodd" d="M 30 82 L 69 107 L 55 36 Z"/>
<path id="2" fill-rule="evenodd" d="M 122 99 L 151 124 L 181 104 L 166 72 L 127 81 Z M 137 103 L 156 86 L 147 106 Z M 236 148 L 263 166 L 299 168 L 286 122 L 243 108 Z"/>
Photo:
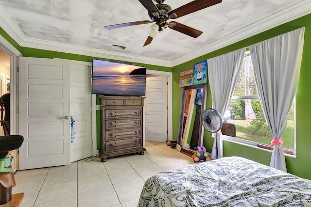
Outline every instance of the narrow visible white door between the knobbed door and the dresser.
<path id="1" fill-rule="evenodd" d="M 92 156 L 91 66 L 70 63 L 71 162 Z M 95 142 L 96 143 L 96 142 Z"/>

